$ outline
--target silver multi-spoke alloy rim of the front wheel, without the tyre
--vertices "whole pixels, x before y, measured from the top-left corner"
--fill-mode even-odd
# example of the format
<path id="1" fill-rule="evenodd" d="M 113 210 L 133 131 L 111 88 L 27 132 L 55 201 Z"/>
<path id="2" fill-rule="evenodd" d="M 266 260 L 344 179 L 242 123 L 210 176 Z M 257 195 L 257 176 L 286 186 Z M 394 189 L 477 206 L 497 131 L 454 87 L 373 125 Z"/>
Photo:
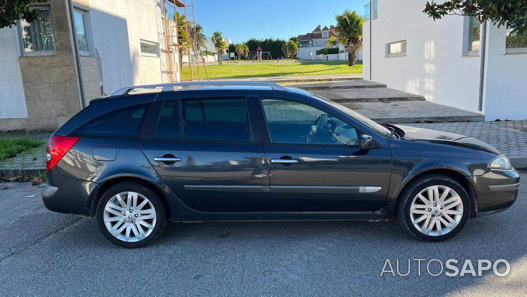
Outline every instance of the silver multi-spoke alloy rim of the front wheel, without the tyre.
<path id="1" fill-rule="evenodd" d="M 410 206 L 410 219 L 425 235 L 441 236 L 451 232 L 463 217 L 463 202 L 447 186 L 430 186 L 417 194 Z"/>

